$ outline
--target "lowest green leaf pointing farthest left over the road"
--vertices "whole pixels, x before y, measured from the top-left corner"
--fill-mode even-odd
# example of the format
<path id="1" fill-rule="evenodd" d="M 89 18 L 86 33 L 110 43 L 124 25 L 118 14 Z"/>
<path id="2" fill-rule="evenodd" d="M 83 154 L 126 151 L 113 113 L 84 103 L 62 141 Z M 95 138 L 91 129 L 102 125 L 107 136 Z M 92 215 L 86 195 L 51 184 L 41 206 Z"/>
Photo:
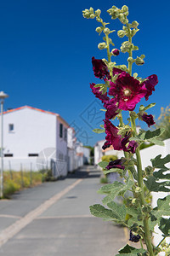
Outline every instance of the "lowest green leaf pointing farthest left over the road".
<path id="1" fill-rule="evenodd" d="M 91 206 L 90 212 L 95 217 L 104 218 L 105 220 L 114 220 L 117 223 L 123 223 L 119 214 L 115 214 L 115 212 L 112 212 L 110 209 L 106 209 L 105 207 L 99 204 Z"/>

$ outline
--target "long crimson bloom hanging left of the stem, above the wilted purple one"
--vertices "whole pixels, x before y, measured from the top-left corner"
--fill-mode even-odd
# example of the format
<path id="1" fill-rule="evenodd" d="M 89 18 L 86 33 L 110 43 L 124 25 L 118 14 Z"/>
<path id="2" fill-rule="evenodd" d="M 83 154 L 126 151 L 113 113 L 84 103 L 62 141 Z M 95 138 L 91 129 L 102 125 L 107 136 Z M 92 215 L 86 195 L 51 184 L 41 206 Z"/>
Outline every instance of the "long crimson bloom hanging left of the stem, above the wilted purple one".
<path id="1" fill-rule="evenodd" d="M 106 141 L 108 144 L 112 145 L 115 150 L 122 150 L 122 143 L 121 143 L 121 135 L 118 135 L 118 129 L 115 125 L 111 124 L 109 119 L 104 120 L 104 128 L 106 133 Z"/>

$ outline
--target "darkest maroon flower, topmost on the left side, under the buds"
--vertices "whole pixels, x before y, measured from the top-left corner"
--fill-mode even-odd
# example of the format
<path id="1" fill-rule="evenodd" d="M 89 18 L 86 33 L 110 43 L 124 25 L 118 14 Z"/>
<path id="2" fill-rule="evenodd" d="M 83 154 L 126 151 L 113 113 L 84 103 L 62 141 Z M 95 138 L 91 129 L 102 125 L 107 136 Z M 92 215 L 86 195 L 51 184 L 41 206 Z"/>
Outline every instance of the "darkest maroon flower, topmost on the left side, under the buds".
<path id="1" fill-rule="evenodd" d="M 97 60 L 92 57 L 92 65 L 94 70 L 94 76 L 96 78 L 104 79 L 105 77 L 109 77 L 109 71 L 104 61 Z"/>

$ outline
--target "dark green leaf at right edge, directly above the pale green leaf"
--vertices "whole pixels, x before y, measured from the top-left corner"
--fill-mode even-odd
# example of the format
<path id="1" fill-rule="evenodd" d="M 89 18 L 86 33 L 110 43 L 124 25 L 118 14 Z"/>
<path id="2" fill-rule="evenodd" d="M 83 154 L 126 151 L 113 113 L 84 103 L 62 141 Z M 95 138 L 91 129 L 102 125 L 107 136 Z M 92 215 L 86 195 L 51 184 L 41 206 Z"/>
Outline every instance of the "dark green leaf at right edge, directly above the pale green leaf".
<path id="1" fill-rule="evenodd" d="M 144 180 L 144 184 L 146 185 L 147 189 L 154 192 L 168 192 L 170 189 L 167 189 L 165 186 L 170 186 L 170 182 L 162 182 L 156 183 L 156 177 L 150 176 L 147 180 Z"/>

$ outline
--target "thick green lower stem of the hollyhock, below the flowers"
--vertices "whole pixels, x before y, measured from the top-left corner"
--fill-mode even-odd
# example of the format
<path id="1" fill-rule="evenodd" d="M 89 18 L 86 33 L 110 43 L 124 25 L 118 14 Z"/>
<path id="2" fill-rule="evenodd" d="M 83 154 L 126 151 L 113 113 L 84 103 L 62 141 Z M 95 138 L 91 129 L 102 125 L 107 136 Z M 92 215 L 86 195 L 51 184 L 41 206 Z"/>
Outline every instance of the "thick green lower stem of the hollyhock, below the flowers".
<path id="1" fill-rule="evenodd" d="M 133 134 L 136 134 L 136 124 L 135 124 L 135 117 L 131 116 L 131 125 L 133 129 Z M 137 159 L 137 170 L 138 170 L 138 185 L 141 189 L 141 193 L 139 194 L 139 200 L 141 207 L 145 207 L 147 205 L 146 201 L 144 200 L 144 183 L 143 183 L 143 175 L 142 175 L 142 163 L 140 158 L 140 151 L 139 147 L 136 148 L 136 159 Z M 153 247 L 151 243 L 151 237 L 150 237 L 150 227 L 148 222 L 148 213 L 144 212 L 144 218 L 143 218 L 143 224 L 144 224 L 144 240 L 146 243 L 146 247 L 148 249 L 148 252 L 150 253 L 150 256 L 154 256 Z"/>

